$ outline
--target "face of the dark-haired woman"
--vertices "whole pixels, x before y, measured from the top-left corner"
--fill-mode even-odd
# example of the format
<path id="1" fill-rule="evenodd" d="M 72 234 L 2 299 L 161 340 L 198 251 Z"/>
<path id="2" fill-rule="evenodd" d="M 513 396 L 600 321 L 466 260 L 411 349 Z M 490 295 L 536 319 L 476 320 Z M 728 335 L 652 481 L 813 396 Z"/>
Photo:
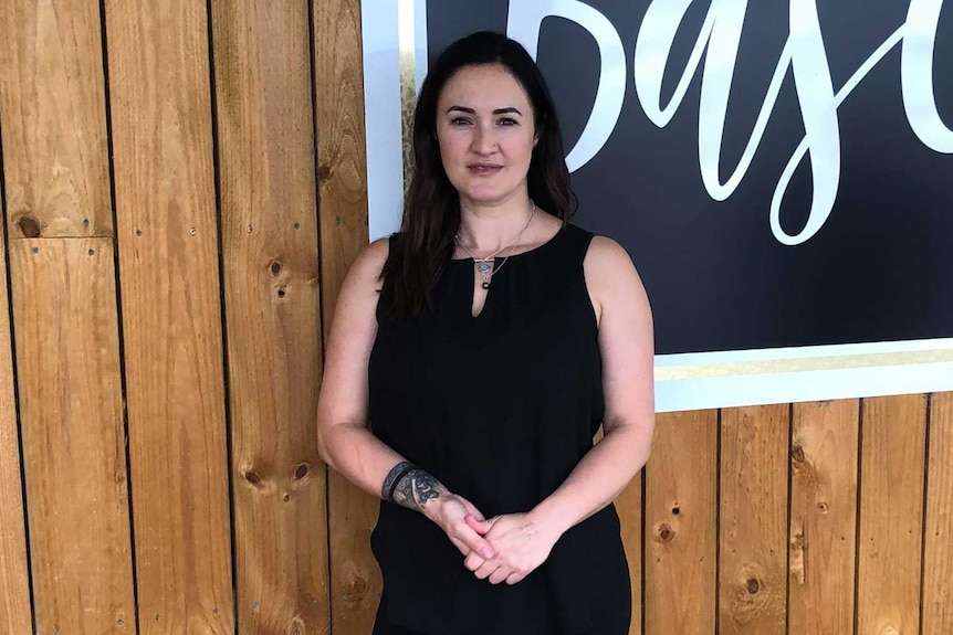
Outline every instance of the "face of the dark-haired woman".
<path id="1" fill-rule="evenodd" d="M 465 66 L 450 77 L 437 100 L 437 139 L 461 203 L 492 205 L 526 195 L 534 115 L 505 67 Z"/>

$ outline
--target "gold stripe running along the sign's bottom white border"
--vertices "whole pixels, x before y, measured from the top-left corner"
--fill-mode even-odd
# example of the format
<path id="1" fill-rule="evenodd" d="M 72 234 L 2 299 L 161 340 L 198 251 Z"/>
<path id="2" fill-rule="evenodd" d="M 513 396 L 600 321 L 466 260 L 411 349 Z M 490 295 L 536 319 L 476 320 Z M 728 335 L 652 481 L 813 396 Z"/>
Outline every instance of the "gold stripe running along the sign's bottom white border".
<path id="1" fill-rule="evenodd" d="M 938 363 L 949 361 L 953 361 L 953 350 L 951 349 L 914 350 L 866 354 L 840 354 L 795 359 L 765 359 L 757 361 L 732 361 L 657 367 L 656 379 L 701 379 L 708 377 L 771 374 L 778 372 L 803 372 L 811 370 L 846 370 L 852 368 Z"/>

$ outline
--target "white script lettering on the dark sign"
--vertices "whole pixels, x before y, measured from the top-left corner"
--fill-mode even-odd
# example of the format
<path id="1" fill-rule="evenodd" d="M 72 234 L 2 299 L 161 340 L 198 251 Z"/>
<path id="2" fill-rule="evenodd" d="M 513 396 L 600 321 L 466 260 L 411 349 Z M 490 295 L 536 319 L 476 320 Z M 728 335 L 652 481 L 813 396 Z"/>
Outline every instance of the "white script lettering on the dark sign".
<path id="1" fill-rule="evenodd" d="M 782 172 L 771 203 L 772 233 L 785 245 L 810 240 L 824 226 L 837 198 L 840 182 L 840 126 L 838 107 L 897 44 L 901 52 L 901 91 L 908 121 L 917 137 L 938 152 L 953 154 L 953 130 L 940 117 L 933 89 L 933 51 L 943 0 L 911 0 L 905 22 L 888 38 L 860 68 L 835 93 L 815 0 L 790 0 L 789 35 L 768 84 L 744 152 L 731 176 L 721 181 L 721 147 L 727 104 L 734 78 L 747 0 L 711 0 L 692 53 L 668 104 L 661 85 L 676 34 L 693 0 L 653 0 L 636 40 L 633 80 L 636 94 L 648 118 L 664 128 L 674 116 L 705 55 L 699 104 L 699 167 L 709 195 L 731 197 L 761 145 L 788 71 L 804 121 L 805 137 Z M 509 34 L 538 49 L 540 27 L 556 15 L 586 29 L 599 45 L 599 88 L 586 128 L 566 161 L 576 170 L 595 157 L 618 123 L 624 98 L 625 55 L 618 32 L 593 7 L 575 0 L 511 0 Z M 788 234 L 781 226 L 781 208 L 794 172 L 810 155 L 813 200 L 805 226 Z"/>

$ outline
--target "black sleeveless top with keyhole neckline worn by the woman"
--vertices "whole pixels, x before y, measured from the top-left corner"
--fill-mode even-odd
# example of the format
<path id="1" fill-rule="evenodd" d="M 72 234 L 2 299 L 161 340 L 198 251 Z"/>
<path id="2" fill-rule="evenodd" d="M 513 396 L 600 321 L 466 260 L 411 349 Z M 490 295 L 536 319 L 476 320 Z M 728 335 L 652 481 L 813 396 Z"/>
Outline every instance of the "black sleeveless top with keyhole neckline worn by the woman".
<path id="1" fill-rule="evenodd" d="M 486 518 L 530 511 L 558 488 L 603 421 L 598 329 L 583 273 L 591 237 L 567 225 L 511 256 L 478 317 L 470 258 L 447 264 L 433 309 L 411 320 L 390 317 L 385 281 L 368 368 L 371 431 Z M 629 575 L 611 505 L 564 533 L 512 586 L 478 580 L 437 525 L 390 502 L 381 501 L 370 541 L 384 617 L 404 628 L 604 635 L 599 624 L 624 623 L 628 632 Z"/>

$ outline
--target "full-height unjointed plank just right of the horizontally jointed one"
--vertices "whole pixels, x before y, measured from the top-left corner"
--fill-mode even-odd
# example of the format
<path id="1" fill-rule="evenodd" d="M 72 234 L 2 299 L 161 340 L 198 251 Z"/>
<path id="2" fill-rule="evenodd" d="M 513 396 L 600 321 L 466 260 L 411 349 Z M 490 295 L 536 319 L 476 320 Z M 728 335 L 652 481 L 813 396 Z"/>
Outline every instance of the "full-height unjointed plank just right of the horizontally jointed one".
<path id="1" fill-rule="evenodd" d="M 206 3 L 105 10 L 140 633 L 231 634 Z"/>

